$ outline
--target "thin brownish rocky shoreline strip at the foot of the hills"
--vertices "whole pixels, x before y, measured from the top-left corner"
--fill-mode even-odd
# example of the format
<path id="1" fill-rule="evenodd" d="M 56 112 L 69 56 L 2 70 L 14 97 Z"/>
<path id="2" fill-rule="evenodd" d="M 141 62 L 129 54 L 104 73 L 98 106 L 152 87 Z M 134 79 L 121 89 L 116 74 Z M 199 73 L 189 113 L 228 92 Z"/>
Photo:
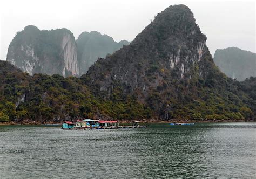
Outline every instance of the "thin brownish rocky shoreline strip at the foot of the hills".
<path id="1" fill-rule="evenodd" d="M 132 121 L 119 121 L 120 124 L 127 124 L 131 123 Z M 149 120 L 149 121 L 141 121 L 140 123 L 220 123 L 220 122 L 256 122 L 255 120 L 168 120 L 168 121 L 160 121 L 160 120 Z M 0 122 L 0 126 L 5 125 L 49 125 L 49 126 L 55 126 L 55 125 L 62 125 L 62 123 L 54 123 L 54 122 L 36 122 L 36 121 L 21 121 L 21 122 Z"/>

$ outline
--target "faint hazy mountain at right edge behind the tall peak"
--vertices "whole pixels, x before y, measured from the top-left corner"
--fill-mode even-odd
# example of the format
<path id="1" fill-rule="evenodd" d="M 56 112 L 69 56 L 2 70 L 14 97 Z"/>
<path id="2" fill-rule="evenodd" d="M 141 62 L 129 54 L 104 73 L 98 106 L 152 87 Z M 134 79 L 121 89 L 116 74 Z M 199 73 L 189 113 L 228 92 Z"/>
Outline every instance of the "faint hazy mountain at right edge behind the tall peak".
<path id="1" fill-rule="evenodd" d="M 239 81 L 256 77 L 256 54 L 237 47 L 217 49 L 214 62 L 228 77 Z"/>

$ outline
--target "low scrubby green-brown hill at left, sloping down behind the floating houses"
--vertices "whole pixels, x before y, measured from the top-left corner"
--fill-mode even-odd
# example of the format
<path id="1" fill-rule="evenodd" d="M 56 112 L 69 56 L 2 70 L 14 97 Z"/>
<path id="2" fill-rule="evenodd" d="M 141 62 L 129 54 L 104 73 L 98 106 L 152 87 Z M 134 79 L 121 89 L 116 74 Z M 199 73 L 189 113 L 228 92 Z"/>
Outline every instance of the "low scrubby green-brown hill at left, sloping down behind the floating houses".
<path id="1" fill-rule="evenodd" d="M 143 119 L 151 111 L 129 98 L 116 102 L 91 95 L 83 80 L 58 74 L 23 73 L 7 61 L 0 61 L 0 120 L 60 122 L 66 119 Z M 25 95 L 24 101 L 19 104 Z M 16 106 L 17 105 L 17 106 Z"/>

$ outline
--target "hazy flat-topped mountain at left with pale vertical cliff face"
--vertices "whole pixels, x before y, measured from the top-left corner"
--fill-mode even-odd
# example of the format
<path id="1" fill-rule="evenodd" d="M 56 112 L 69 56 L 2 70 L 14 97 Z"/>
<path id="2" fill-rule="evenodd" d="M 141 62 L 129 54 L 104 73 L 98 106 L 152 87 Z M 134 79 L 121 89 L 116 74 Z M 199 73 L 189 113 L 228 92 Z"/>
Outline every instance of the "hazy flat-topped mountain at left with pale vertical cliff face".
<path id="1" fill-rule="evenodd" d="M 66 29 L 40 31 L 26 26 L 12 40 L 6 59 L 30 75 L 79 74 L 75 38 Z"/>

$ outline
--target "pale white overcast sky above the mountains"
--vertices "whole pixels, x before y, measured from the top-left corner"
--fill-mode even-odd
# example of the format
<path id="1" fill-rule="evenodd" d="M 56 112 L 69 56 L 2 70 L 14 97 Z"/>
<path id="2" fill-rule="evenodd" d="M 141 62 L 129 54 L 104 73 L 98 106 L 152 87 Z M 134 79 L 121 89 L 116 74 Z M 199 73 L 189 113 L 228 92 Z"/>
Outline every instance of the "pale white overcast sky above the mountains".
<path id="1" fill-rule="evenodd" d="M 255 53 L 254 1 L 1 0 L 0 59 L 6 59 L 11 40 L 26 25 L 40 30 L 65 27 L 76 38 L 83 31 L 99 31 L 116 41 L 131 41 L 173 4 L 185 4 L 193 11 L 212 55 L 232 46 Z"/>

